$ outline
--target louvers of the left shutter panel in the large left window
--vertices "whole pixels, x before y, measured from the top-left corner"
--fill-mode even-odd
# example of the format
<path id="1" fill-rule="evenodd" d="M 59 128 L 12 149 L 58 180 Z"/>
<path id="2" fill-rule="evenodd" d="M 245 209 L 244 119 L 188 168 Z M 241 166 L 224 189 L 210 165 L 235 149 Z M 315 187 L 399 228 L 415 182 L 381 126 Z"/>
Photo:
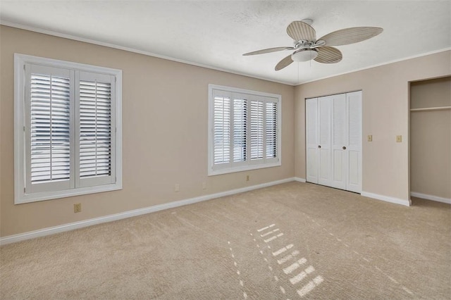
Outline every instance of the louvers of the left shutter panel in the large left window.
<path id="1" fill-rule="evenodd" d="M 70 178 L 70 78 L 31 74 L 31 183 Z"/>

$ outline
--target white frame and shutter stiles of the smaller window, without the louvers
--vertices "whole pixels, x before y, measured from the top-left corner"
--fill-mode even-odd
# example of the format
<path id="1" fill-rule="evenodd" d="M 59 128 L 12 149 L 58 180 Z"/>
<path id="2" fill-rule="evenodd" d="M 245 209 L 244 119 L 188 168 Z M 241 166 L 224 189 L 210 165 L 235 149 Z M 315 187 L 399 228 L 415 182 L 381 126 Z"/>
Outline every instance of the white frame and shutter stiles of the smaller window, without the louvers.
<path id="1" fill-rule="evenodd" d="M 233 111 L 233 105 L 235 98 L 240 100 L 240 96 L 246 95 L 248 96 L 247 101 L 247 160 L 246 161 L 238 161 L 234 162 L 233 152 L 230 154 L 231 161 L 230 163 L 225 163 L 223 166 L 218 166 L 218 164 L 214 164 L 214 91 L 221 91 L 221 94 L 237 94 L 239 97 L 230 97 L 230 110 Z M 213 85 L 209 84 L 208 87 L 208 172 L 209 176 L 213 175 L 221 175 L 227 173 L 236 173 L 247 170 L 256 170 L 261 168 L 271 168 L 282 165 L 282 152 L 281 152 L 281 132 L 282 132 L 282 96 L 280 94 L 271 94 L 266 92 L 258 92 L 249 89 L 240 89 L 236 87 L 226 87 L 222 85 Z M 259 99 L 275 99 L 277 104 L 277 147 L 276 147 L 276 158 L 266 158 L 266 144 L 264 144 L 264 154 L 261 161 L 259 159 L 251 159 L 251 148 L 250 148 L 250 137 L 251 137 L 251 122 L 250 122 L 250 114 L 251 114 L 251 104 L 250 101 L 255 101 Z M 264 106 L 267 103 L 271 103 L 270 101 L 264 102 Z M 266 108 L 264 108 L 266 111 Z M 230 123 L 233 123 L 233 118 L 230 116 Z M 264 117 L 264 139 L 266 139 L 266 118 Z M 230 132 L 230 145 L 233 144 L 233 132 Z M 232 147 L 231 147 L 232 148 Z M 227 164 L 227 165 L 226 165 Z"/>

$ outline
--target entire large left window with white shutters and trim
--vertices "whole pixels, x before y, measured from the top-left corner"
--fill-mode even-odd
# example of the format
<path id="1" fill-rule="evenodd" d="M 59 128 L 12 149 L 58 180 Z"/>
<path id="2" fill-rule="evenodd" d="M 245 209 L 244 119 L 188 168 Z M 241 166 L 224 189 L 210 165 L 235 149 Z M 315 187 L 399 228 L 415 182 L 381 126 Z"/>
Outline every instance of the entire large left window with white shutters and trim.
<path id="1" fill-rule="evenodd" d="M 15 203 L 122 188 L 122 71 L 15 54 Z"/>

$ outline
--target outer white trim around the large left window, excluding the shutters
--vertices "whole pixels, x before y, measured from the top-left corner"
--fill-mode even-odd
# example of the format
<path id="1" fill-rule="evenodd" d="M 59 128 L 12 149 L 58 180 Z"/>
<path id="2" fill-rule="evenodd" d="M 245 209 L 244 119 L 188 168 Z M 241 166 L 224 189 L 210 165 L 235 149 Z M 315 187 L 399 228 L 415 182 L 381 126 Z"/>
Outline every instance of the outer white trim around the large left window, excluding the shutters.
<path id="1" fill-rule="evenodd" d="M 116 182 L 95 187 L 79 187 L 56 192 L 25 193 L 25 74 L 26 63 L 68 68 L 92 73 L 103 73 L 116 77 Z M 68 196 L 93 194 L 122 189 L 122 70 L 85 65 L 51 58 L 14 54 L 14 204 L 58 199 Z"/>

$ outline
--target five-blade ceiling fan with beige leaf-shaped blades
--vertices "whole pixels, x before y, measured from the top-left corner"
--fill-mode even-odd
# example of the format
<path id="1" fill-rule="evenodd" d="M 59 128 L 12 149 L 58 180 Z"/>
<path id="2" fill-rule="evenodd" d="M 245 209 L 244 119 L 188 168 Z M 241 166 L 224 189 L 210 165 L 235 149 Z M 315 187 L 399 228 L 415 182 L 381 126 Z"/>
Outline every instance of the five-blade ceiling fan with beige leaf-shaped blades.
<path id="1" fill-rule="evenodd" d="M 289 56 L 283 58 L 276 65 L 276 71 L 282 70 L 293 61 L 317 61 L 319 63 L 338 63 L 342 59 L 341 51 L 333 46 L 342 46 L 362 42 L 371 37 L 376 37 L 383 29 L 381 27 L 350 27 L 330 32 L 328 35 L 316 39 L 316 32 L 310 19 L 293 21 L 287 27 L 288 35 L 294 40 L 292 47 L 276 47 L 252 51 L 246 54 L 264 54 L 283 50 L 295 50 Z"/>

